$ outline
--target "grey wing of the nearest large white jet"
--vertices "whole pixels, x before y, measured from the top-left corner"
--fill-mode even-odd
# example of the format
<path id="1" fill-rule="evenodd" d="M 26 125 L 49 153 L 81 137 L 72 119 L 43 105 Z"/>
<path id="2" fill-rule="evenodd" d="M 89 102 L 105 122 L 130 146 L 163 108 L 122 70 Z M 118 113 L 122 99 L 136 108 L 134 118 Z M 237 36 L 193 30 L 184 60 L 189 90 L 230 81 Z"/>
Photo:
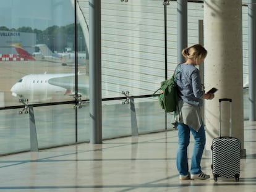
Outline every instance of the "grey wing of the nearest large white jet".
<path id="1" fill-rule="evenodd" d="M 48 83 L 55 86 L 61 86 L 62 88 L 75 91 L 75 76 L 69 77 L 56 77 L 48 80 Z M 83 96 L 89 96 L 89 77 L 85 74 L 78 76 L 78 91 Z"/>

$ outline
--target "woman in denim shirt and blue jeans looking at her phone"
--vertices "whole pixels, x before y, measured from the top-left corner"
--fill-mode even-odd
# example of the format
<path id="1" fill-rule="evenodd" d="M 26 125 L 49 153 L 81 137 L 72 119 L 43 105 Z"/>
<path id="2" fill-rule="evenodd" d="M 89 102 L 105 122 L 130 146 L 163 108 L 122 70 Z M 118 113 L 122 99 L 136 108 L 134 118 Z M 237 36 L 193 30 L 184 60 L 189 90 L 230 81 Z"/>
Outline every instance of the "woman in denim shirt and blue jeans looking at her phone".
<path id="1" fill-rule="evenodd" d="M 205 148 L 205 128 L 200 115 L 202 99 L 213 99 L 214 94 L 205 94 L 202 88 L 200 73 L 197 65 L 201 64 L 207 56 L 207 50 L 200 44 L 195 44 L 182 50 L 186 62 L 180 64 L 176 76 L 179 95 L 179 120 L 177 170 L 180 180 L 207 179 L 210 175 L 202 172 L 200 162 Z M 195 144 L 191 159 L 191 167 L 187 161 L 187 146 L 190 142 L 190 132 L 194 136 Z"/>

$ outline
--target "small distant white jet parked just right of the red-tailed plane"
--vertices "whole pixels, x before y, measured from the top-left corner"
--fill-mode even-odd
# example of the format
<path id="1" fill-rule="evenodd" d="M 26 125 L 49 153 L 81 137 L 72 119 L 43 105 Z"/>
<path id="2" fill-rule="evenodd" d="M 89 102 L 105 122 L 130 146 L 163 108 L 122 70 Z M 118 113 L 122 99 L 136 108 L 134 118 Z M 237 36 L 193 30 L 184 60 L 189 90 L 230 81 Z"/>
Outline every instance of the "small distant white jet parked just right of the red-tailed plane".
<path id="1" fill-rule="evenodd" d="M 40 49 L 43 59 L 51 62 L 61 62 L 62 65 L 75 64 L 75 53 L 74 52 L 52 52 L 46 44 L 36 44 L 35 47 Z M 85 65 L 86 54 L 82 52 L 77 53 L 77 59 L 79 65 Z"/>

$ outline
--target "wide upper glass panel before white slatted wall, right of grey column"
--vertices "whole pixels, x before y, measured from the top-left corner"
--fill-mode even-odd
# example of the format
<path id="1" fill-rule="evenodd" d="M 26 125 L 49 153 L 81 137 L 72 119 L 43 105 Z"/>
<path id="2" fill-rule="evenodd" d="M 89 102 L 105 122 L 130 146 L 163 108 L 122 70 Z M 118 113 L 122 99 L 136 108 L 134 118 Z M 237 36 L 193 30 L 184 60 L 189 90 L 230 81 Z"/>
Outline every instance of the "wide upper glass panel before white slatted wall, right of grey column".
<path id="1" fill-rule="evenodd" d="M 163 1 L 101 1 L 102 96 L 153 94 L 164 77 Z"/>

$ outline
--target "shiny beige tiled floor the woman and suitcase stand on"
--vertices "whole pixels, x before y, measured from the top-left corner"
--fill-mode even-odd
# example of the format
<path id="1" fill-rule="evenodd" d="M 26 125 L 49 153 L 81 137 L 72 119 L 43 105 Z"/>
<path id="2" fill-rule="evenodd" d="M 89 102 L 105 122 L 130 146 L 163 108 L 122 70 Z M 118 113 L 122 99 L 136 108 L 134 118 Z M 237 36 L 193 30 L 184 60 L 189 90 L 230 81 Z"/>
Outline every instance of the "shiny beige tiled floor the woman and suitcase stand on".
<path id="1" fill-rule="evenodd" d="M 239 182 L 215 182 L 205 156 L 203 171 L 211 178 L 180 181 L 174 130 L 2 156 L 0 191 L 256 191 L 256 122 L 244 125 L 247 157 Z"/>

